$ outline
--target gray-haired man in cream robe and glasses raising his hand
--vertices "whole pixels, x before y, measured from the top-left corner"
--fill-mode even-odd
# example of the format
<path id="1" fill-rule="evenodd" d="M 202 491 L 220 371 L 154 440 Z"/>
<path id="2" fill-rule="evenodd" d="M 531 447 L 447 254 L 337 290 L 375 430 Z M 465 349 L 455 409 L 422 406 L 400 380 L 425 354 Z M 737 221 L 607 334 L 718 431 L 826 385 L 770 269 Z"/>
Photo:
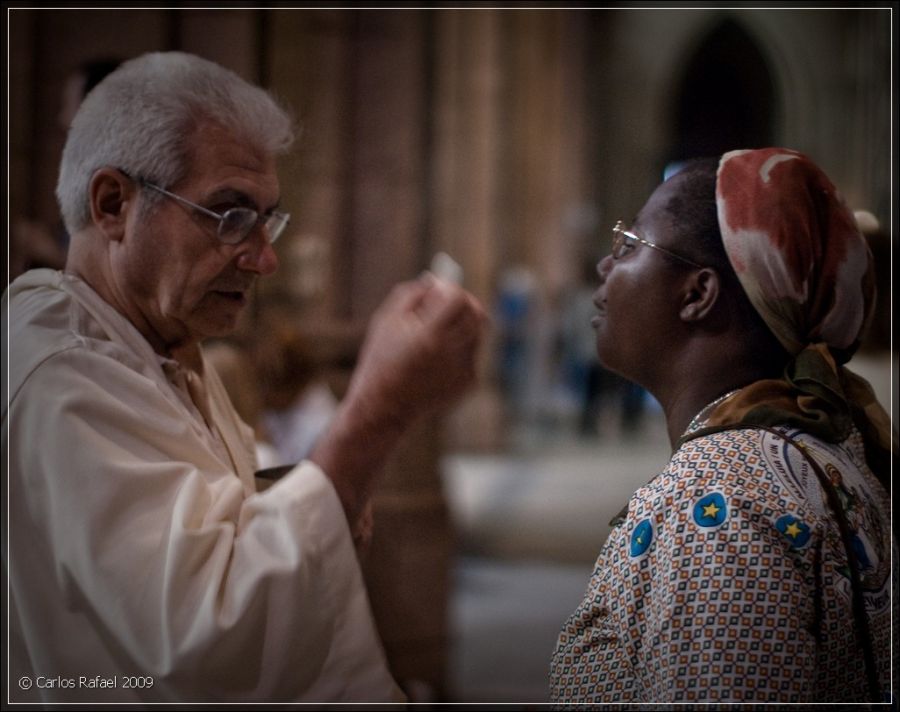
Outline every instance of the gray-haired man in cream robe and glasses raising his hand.
<path id="1" fill-rule="evenodd" d="M 352 531 L 398 438 L 473 380 L 483 312 L 397 287 L 331 430 L 256 492 L 199 345 L 277 266 L 291 141 L 266 92 L 180 53 L 125 63 L 75 117 L 66 269 L 3 304 L 11 701 L 402 699 Z"/>

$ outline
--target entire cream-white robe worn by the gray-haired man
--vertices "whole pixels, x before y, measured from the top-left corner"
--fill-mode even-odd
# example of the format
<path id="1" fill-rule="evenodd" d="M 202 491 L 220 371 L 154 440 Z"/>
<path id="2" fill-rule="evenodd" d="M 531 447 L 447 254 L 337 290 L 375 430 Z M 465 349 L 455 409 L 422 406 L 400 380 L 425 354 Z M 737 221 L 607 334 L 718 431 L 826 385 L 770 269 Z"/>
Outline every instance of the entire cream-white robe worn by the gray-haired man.
<path id="1" fill-rule="evenodd" d="M 10 286 L 3 336 L 10 702 L 402 699 L 330 480 L 304 462 L 257 493 L 211 368 L 212 427 L 184 369 L 49 270 Z"/>

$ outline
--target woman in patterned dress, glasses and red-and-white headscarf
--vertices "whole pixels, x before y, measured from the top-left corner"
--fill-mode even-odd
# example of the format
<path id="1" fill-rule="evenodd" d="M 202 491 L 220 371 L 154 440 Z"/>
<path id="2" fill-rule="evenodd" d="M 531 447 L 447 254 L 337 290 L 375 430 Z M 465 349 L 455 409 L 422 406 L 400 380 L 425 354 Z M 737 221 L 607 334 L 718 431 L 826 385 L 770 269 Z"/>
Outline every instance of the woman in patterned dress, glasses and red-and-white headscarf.
<path id="1" fill-rule="evenodd" d="M 842 366 L 874 302 L 853 216 L 770 148 L 690 164 L 614 233 L 597 351 L 674 454 L 614 522 L 553 701 L 885 699 L 892 442 Z"/>

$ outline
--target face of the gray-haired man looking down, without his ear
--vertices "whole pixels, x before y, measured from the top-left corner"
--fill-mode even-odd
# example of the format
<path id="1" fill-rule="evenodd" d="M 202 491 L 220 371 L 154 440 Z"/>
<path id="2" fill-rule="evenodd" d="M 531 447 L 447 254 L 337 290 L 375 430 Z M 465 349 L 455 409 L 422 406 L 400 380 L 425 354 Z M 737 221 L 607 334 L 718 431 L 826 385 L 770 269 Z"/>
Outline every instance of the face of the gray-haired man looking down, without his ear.
<path id="1" fill-rule="evenodd" d="M 198 128 L 194 146 L 188 176 L 167 190 L 219 214 L 276 206 L 273 157 L 212 123 Z M 157 204 L 142 213 L 137 208 L 150 195 L 147 188 L 137 193 L 125 237 L 110 256 L 117 291 L 144 322 L 138 328 L 164 350 L 230 333 L 256 278 L 278 265 L 265 229 L 257 226 L 243 242 L 226 245 L 215 218 L 172 198 L 154 195 Z"/>

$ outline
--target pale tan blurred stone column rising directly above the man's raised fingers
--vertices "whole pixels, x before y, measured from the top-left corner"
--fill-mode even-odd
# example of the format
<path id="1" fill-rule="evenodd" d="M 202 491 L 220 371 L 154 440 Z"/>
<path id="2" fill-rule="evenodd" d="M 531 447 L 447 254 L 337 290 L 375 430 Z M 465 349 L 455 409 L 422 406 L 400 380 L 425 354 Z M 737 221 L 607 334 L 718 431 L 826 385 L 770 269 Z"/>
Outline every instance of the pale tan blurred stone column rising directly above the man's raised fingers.
<path id="1" fill-rule="evenodd" d="M 433 29 L 431 244 L 459 262 L 466 288 L 488 310 L 505 243 L 497 215 L 502 15 L 441 11 L 434 15 Z M 489 332 L 482 350 L 478 387 L 448 422 L 451 446 L 494 450 L 504 444 L 494 337 Z"/>

